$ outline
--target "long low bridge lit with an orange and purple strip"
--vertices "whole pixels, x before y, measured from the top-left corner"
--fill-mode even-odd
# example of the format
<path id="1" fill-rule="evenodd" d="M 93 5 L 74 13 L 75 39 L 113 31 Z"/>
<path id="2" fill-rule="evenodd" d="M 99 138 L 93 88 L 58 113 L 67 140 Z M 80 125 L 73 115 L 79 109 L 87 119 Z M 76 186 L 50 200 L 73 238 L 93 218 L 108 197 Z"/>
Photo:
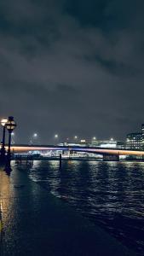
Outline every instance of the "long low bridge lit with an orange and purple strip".
<path id="1" fill-rule="evenodd" d="M 134 149 L 120 149 L 120 148 L 93 148 L 80 146 L 53 146 L 53 145 L 12 145 L 11 150 L 14 153 L 26 153 L 29 151 L 48 151 L 48 150 L 62 150 L 73 152 L 87 152 L 93 154 L 103 155 L 104 160 L 118 160 L 120 155 L 137 155 L 143 156 L 144 151 Z"/>

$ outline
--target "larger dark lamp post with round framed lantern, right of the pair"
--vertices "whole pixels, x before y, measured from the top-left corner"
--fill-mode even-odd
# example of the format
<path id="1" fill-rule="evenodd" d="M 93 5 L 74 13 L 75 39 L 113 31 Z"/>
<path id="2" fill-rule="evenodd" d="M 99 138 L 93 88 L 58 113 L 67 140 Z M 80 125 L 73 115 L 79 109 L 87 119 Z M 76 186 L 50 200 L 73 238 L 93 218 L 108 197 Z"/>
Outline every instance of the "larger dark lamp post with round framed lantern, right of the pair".
<path id="1" fill-rule="evenodd" d="M 13 116 L 9 116 L 8 122 L 5 124 L 5 127 L 9 131 L 8 154 L 7 154 L 7 161 L 6 161 L 6 168 L 5 168 L 5 170 L 6 171 L 11 171 L 11 167 L 10 167 L 10 160 L 11 160 L 11 154 L 10 154 L 11 134 L 12 134 L 12 131 L 16 127 L 16 123 L 14 122 L 14 117 Z"/>

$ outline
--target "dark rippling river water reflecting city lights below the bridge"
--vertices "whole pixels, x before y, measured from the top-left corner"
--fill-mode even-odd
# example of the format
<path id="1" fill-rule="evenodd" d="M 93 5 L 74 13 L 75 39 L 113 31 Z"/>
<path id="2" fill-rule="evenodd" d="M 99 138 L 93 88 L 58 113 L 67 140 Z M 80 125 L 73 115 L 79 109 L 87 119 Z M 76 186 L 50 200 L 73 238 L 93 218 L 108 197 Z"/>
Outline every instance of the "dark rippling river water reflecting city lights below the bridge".
<path id="1" fill-rule="evenodd" d="M 29 177 L 144 255 L 144 163 L 34 161 Z"/>

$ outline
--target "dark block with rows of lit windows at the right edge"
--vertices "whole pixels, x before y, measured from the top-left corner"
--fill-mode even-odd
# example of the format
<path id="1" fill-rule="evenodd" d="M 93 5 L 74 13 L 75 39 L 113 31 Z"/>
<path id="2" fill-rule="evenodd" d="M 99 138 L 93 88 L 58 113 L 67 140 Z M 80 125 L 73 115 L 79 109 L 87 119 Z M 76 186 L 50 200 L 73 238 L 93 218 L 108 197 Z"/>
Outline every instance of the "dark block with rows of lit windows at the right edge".
<path id="1" fill-rule="evenodd" d="M 129 133 L 126 137 L 126 148 L 142 149 L 142 133 Z"/>

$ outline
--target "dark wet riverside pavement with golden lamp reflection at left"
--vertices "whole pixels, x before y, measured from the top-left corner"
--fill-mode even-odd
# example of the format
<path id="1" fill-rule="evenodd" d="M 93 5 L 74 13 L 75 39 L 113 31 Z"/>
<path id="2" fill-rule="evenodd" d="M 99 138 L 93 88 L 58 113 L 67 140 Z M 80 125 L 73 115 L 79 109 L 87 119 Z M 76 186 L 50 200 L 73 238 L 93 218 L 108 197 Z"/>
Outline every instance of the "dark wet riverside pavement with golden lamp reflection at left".
<path id="1" fill-rule="evenodd" d="M 135 255 L 15 166 L 0 170 L 0 209 L 2 256 Z"/>

